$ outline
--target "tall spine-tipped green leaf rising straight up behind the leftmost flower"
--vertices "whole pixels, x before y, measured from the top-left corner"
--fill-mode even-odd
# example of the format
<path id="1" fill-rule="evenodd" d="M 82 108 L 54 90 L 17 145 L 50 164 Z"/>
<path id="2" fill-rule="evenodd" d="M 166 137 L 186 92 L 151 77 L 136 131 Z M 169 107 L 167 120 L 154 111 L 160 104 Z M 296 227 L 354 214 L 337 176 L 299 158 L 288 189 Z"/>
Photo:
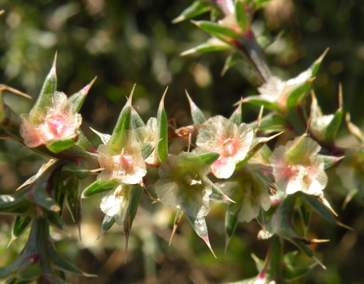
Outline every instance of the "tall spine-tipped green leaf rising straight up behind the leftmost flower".
<path id="1" fill-rule="evenodd" d="M 42 111 L 49 105 L 49 100 L 51 99 L 51 94 L 57 90 L 57 75 L 56 75 L 56 60 L 57 53 L 54 56 L 54 61 L 50 72 L 48 73 L 46 79 L 44 80 L 43 86 L 40 90 L 37 101 L 34 104 L 33 109 L 38 109 Z"/>

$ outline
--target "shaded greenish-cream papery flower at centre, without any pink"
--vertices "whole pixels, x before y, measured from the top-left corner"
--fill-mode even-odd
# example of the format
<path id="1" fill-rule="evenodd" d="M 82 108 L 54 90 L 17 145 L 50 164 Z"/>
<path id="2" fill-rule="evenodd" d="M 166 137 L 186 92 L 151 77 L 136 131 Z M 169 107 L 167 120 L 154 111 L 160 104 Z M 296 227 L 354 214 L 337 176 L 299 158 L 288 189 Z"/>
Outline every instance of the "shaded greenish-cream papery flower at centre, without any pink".
<path id="1" fill-rule="evenodd" d="M 211 168 L 200 157 L 189 152 L 170 155 L 159 167 L 155 191 L 169 207 L 179 205 L 187 215 L 200 218 L 209 213 L 211 181 L 206 174 Z"/>

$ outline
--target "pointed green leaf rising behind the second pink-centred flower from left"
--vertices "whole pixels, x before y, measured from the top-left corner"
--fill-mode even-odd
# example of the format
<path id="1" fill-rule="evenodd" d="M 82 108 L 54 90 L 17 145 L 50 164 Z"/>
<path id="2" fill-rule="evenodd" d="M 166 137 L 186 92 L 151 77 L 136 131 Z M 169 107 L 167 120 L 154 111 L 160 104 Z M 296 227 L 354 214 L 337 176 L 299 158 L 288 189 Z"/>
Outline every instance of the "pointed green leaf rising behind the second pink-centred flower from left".
<path id="1" fill-rule="evenodd" d="M 120 140 L 125 136 L 127 130 L 131 130 L 131 100 L 133 97 L 135 84 L 131 90 L 130 96 L 120 112 L 118 122 L 115 125 L 114 131 L 112 132 L 111 138 L 108 143 L 118 144 Z"/>

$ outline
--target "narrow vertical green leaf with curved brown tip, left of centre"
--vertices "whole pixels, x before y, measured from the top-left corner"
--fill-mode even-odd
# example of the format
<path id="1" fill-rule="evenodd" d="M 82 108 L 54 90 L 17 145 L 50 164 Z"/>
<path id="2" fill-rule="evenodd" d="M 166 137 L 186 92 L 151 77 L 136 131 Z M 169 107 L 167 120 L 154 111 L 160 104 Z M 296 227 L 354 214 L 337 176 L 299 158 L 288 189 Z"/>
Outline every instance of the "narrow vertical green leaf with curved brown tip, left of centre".
<path id="1" fill-rule="evenodd" d="M 168 120 L 164 108 L 164 97 L 166 95 L 167 89 L 168 88 L 166 88 L 166 91 L 163 93 L 157 113 L 158 139 L 160 139 L 160 141 L 157 143 L 156 147 L 157 147 L 157 155 L 161 163 L 168 156 Z"/>

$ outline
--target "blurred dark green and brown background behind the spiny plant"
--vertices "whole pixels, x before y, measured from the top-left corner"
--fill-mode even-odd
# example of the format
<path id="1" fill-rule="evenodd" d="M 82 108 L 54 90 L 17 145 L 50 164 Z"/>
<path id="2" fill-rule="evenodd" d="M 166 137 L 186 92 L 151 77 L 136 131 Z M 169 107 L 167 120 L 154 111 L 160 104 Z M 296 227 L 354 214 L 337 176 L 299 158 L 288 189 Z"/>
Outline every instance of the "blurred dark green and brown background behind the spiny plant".
<path id="1" fill-rule="evenodd" d="M 257 94 L 245 79 L 242 64 L 221 71 L 229 52 L 179 54 L 209 36 L 184 21 L 171 24 L 189 0 L 0 0 L 0 83 L 28 93 L 36 99 L 55 52 L 58 52 L 58 90 L 75 93 L 98 76 L 80 111 L 82 129 L 97 148 L 101 143 L 91 130 L 111 133 L 132 85 L 137 83 L 133 105 L 142 118 L 156 116 L 159 100 L 169 86 L 167 116 L 179 127 L 191 124 L 185 89 L 206 116 L 229 117 L 241 96 Z M 198 19 L 208 19 L 208 15 Z M 364 124 L 364 1 L 362 0 L 272 0 L 259 11 L 254 22 L 258 40 L 269 45 L 266 56 L 273 72 L 289 79 L 297 76 L 326 48 L 313 88 L 324 114 L 338 107 L 339 82 L 343 85 L 344 109 L 352 121 Z M 26 113 L 31 101 L 5 94 L 17 112 Z M 258 109 L 243 105 L 244 122 L 256 119 Z M 348 145 L 347 129 L 340 129 L 340 143 Z M 174 143 L 170 151 L 185 144 Z M 0 141 L 0 193 L 13 192 L 45 163 L 41 157 L 15 143 Z M 311 247 L 327 266 L 295 283 L 364 283 L 364 215 L 359 201 L 341 208 L 347 191 L 335 179 L 325 191 L 349 231 L 313 218 L 310 237 L 330 239 Z M 86 180 L 84 186 L 95 177 Z M 213 203 L 206 218 L 211 245 L 217 259 L 183 220 L 172 245 L 168 239 L 174 209 L 151 204 L 142 197 L 124 263 L 122 228 L 114 225 L 95 243 L 103 214 L 102 196 L 83 202 L 82 241 L 65 212 L 69 232 L 52 231 L 62 255 L 98 278 L 70 276 L 72 283 L 229 283 L 257 274 L 254 253 L 264 259 L 267 241 L 258 241 L 259 225 L 239 224 L 224 254 L 225 204 Z M 0 216 L 0 264 L 16 257 L 27 233 L 7 249 L 12 217 Z M 295 249 L 291 245 L 286 250 Z M 0 281 L 1 283 L 1 281 Z"/>

